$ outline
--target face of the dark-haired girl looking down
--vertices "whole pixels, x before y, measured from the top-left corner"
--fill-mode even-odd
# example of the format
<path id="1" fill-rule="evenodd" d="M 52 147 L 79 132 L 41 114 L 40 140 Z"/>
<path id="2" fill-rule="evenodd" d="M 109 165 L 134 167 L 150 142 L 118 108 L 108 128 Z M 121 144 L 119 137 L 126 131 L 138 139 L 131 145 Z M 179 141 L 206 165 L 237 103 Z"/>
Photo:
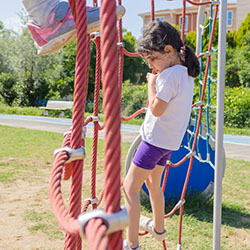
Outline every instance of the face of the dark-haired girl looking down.
<path id="1" fill-rule="evenodd" d="M 161 73 L 164 69 L 181 64 L 177 53 L 172 46 L 167 45 L 164 52 L 153 51 L 150 55 L 145 55 L 144 60 L 148 67 L 157 73 Z"/>

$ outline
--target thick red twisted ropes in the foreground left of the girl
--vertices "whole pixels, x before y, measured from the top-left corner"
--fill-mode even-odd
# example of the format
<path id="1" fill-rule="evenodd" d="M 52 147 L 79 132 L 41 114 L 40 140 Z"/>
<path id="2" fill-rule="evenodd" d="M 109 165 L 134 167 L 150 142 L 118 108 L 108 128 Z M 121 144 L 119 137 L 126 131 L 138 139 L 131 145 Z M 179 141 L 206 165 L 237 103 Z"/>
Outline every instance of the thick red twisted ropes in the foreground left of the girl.
<path id="1" fill-rule="evenodd" d="M 67 232 L 65 237 L 65 249 L 81 249 L 81 238 L 79 232 L 82 230 L 77 221 L 81 213 L 81 188 L 83 159 L 75 159 L 68 163 L 72 150 L 84 149 L 83 125 L 93 118 L 84 122 L 84 110 L 87 96 L 90 40 L 87 35 L 86 2 L 81 0 L 69 2 L 77 28 L 77 57 L 75 68 L 74 85 L 74 107 L 72 116 L 72 129 L 65 134 L 61 149 L 56 150 L 50 178 L 50 198 L 52 210 L 60 226 Z M 113 213 L 120 210 L 120 106 L 114 105 L 120 97 L 118 83 L 118 59 L 117 58 L 117 32 L 116 32 L 116 5 L 115 1 L 103 1 L 101 8 L 101 31 L 103 33 L 102 44 L 96 39 L 97 44 L 97 70 L 96 83 L 100 82 L 100 51 L 103 50 L 103 92 L 104 92 L 104 114 L 106 116 L 106 146 L 105 146 L 105 203 L 106 212 Z M 112 48 L 113 49 L 110 49 Z M 110 67 L 111 65 L 111 67 Z M 112 73 L 110 75 L 110 73 Z M 98 84 L 96 84 L 97 86 Z M 112 90 L 112 91 L 110 91 Z M 114 91 L 115 90 L 115 91 Z M 99 99 L 99 87 L 95 89 L 96 99 Z M 107 97 L 106 97 L 107 96 Z M 110 102 L 112 106 L 110 106 Z M 119 102 L 118 102 L 119 103 Z M 95 103 L 94 115 L 97 115 L 98 102 Z M 115 121 L 116 122 L 113 122 Z M 95 126 L 100 129 L 99 126 Z M 97 133 L 96 133 L 97 134 Z M 96 143 L 95 143 L 96 142 Z M 114 143 L 115 142 L 115 143 Z M 97 144 L 97 135 L 94 138 Z M 93 155 L 96 149 L 93 150 Z M 83 153 L 82 153 L 83 155 Z M 111 157 L 112 156 L 112 157 Z M 83 158 L 83 157 L 80 157 Z M 96 158 L 93 157 L 93 161 Z M 93 164 L 95 165 L 95 163 Z M 95 172 L 94 172 L 95 174 Z M 93 175 L 94 175 L 93 174 Z M 92 177 L 93 177 L 92 175 Z M 72 177 L 69 210 L 67 211 L 61 193 L 61 179 Z M 92 184 L 95 183 L 93 177 Z M 94 185 L 94 184 L 93 184 Z M 114 188 L 114 186 L 116 188 Z M 95 189 L 92 187 L 92 197 L 95 197 Z M 93 205 L 95 207 L 95 205 Z M 91 219 L 85 225 L 85 235 L 88 240 L 89 249 L 117 249 L 122 247 L 121 231 L 113 233 L 108 238 L 105 236 L 107 225 L 103 219 Z M 93 239 L 95 239 L 93 241 Z"/>

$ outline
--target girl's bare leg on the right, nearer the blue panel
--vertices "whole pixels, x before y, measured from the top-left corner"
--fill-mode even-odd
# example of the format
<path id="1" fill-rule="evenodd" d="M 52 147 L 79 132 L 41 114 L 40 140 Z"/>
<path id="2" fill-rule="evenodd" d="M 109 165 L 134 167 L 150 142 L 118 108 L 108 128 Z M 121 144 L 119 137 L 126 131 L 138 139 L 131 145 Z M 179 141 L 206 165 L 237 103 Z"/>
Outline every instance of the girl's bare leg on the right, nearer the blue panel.
<path id="1" fill-rule="evenodd" d="M 158 233 L 164 231 L 165 198 L 160 186 L 163 170 L 164 166 L 156 165 L 146 180 L 153 211 L 154 229 Z"/>

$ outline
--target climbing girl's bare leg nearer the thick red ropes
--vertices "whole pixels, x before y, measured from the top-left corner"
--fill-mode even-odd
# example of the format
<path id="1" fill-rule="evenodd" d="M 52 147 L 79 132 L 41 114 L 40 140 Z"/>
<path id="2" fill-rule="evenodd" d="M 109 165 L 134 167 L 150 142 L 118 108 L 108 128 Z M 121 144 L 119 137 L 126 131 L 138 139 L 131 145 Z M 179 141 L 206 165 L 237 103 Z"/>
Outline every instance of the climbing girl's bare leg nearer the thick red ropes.
<path id="1" fill-rule="evenodd" d="M 129 214 L 129 226 L 127 228 L 127 243 L 129 247 L 135 248 L 139 245 L 139 218 L 140 197 L 139 192 L 142 184 L 153 170 L 146 170 L 131 164 L 128 174 L 123 182 L 125 193 L 125 206 Z"/>

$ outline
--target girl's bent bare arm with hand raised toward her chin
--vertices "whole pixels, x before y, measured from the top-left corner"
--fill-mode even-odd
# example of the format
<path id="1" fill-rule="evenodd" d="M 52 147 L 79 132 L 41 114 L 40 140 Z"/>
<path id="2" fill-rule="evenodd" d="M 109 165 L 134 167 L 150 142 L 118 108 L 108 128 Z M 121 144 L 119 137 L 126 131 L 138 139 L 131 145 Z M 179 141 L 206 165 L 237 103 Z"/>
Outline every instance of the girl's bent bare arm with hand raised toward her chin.
<path id="1" fill-rule="evenodd" d="M 157 75 L 154 75 L 152 73 L 147 73 L 149 108 L 154 116 L 159 117 L 165 111 L 167 107 L 167 102 L 156 97 L 156 90 L 155 90 L 156 78 Z"/>

